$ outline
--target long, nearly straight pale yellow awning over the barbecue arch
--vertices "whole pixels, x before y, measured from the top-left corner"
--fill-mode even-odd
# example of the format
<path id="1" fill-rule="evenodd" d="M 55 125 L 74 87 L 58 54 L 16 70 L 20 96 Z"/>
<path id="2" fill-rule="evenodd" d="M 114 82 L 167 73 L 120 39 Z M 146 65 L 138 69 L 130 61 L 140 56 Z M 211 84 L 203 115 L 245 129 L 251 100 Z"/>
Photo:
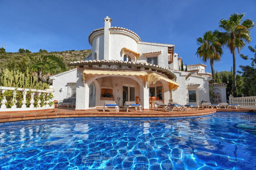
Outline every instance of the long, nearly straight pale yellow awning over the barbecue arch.
<path id="1" fill-rule="evenodd" d="M 91 75 L 86 75 L 91 74 Z M 95 75 L 131 75 L 131 76 L 147 76 L 145 71 L 119 71 L 119 70 L 84 70 L 83 79 L 85 81 L 95 77 Z M 143 79 L 142 79 L 143 80 Z"/>

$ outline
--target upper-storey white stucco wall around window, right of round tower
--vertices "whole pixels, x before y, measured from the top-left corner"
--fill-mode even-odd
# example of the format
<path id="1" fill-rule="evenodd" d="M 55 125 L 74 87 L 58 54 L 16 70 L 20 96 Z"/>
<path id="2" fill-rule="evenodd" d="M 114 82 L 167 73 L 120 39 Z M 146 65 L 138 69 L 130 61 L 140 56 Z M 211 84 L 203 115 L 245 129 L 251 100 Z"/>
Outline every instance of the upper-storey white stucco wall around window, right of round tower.
<path id="1" fill-rule="evenodd" d="M 138 62 L 147 62 L 147 57 L 143 56 L 142 53 L 148 53 L 152 51 L 162 51 L 162 53 L 158 56 L 157 65 L 168 68 L 168 47 L 167 46 L 138 43 L 137 52 L 141 54 Z"/>

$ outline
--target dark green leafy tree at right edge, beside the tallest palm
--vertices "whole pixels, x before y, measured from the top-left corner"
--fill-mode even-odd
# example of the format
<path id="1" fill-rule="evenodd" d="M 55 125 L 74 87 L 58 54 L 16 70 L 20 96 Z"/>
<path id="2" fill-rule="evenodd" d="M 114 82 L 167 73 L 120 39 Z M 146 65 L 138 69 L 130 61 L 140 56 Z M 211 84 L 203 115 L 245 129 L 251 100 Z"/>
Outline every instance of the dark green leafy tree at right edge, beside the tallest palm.
<path id="1" fill-rule="evenodd" d="M 252 46 L 248 46 L 249 50 L 254 53 L 254 58 L 249 58 L 248 55 L 244 56 L 240 54 L 240 57 L 244 60 L 251 60 L 251 66 L 239 66 L 242 71 L 238 71 L 238 73 L 242 73 L 244 77 L 244 95 L 245 96 L 256 96 L 256 45 L 253 48 Z"/>

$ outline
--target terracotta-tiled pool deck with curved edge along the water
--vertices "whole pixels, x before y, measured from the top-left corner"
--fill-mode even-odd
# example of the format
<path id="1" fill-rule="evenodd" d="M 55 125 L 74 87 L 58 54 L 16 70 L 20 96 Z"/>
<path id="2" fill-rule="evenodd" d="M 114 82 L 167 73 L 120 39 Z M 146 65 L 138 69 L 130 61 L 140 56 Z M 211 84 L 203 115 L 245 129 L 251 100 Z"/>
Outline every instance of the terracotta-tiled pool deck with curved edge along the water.
<path id="1" fill-rule="evenodd" d="M 124 108 L 120 108 L 119 112 L 115 109 L 105 109 L 103 112 L 102 108 L 89 109 L 86 111 L 75 111 L 74 108 L 55 108 L 55 110 L 49 111 L 28 111 L 23 113 L 1 113 L 0 123 L 13 122 L 13 121 L 25 121 L 35 119 L 53 119 L 53 118 L 64 118 L 64 117 L 182 117 L 182 116 L 201 116 L 215 113 L 216 111 L 239 111 L 239 112 L 256 112 L 252 109 L 202 109 L 199 108 L 197 111 L 177 111 L 172 112 L 164 111 L 159 108 L 157 111 L 154 109 L 143 110 L 142 112 L 130 109 L 126 112 Z"/>

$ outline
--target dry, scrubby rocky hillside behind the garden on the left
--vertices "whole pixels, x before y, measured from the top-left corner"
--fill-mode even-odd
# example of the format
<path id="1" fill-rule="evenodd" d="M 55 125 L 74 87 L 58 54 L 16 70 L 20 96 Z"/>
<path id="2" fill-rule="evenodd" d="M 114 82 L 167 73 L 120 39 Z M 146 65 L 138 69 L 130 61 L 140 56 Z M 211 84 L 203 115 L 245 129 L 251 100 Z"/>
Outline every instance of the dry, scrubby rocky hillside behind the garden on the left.
<path id="1" fill-rule="evenodd" d="M 10 62 L 19 62 L 21 59 L 24 59 L 26 56 L 36 56 L 36 55 L 55 55 L 63 59 L 62 61 L 66 64 L 70 61 L 84 60 L 92 50 L 70 50 L 70 51 L 60 51 L 60 52 L 42 52 L 42 53 L 0 53 L 0 68 L 7 68 L 7 64 Z"/>

